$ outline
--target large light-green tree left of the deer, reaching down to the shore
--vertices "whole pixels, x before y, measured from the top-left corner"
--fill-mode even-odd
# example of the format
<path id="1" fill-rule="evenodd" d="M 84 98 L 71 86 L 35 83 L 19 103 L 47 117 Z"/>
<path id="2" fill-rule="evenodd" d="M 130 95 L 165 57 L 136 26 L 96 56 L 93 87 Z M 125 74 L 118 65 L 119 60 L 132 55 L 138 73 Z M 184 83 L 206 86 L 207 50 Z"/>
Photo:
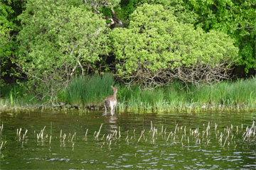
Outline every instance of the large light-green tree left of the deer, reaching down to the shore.
<path id="1" fill-rule="evenodd" d="M 78 1 L 29 0 L 19 19 L 18 65 L 52 103 L 75 73 L 108 52 L 105 21 Z"/>

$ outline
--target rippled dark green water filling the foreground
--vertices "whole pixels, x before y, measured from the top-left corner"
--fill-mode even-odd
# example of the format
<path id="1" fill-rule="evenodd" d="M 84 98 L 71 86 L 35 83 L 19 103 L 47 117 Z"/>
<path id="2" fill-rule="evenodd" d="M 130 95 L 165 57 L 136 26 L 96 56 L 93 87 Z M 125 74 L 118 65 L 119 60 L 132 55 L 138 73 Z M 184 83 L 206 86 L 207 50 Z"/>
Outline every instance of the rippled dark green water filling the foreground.
<path id="1" fill-rule="evenodd" d="M 0 169 L 256 169 L 255 115 L 2 111 Z"/>

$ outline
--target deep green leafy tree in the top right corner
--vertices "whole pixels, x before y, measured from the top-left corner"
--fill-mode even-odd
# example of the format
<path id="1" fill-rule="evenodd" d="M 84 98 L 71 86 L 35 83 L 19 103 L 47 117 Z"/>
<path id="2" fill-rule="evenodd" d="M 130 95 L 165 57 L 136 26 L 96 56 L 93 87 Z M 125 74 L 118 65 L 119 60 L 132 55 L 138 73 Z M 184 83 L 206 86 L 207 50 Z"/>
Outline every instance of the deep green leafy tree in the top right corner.
<path id="1" fill-rule="evenodd" d="M 245 71 L 256 69 L 254 0 L 188 0 L 187 4 L 198 14 L 197 26 L 230 35 L 240 49 L 238 64 L 245 65 Z"/>

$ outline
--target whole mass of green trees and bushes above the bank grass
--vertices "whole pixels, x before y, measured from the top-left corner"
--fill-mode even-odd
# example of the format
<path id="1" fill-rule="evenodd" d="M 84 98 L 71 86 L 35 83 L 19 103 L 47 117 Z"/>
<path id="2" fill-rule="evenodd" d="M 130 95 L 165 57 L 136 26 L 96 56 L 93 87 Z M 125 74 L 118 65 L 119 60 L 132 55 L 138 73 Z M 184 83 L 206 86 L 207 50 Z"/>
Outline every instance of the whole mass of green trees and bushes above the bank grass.
<path id="1" fill-rule="evenodd" d="M 19 69 L 41 97 L 92 72 L 150 87 L 210 84 L 235 65 L 256 70 L 252 0 L 0 3 L 1 77 Z"/>

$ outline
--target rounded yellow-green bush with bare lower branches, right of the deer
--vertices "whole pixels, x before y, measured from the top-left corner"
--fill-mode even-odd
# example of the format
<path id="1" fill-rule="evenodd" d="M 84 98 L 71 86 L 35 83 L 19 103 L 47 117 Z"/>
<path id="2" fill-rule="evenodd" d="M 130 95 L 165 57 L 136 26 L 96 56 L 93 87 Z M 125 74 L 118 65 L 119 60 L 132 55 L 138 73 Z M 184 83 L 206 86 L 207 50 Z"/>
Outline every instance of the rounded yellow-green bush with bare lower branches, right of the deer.
<path id="1" fill-rule="evenodd" d="M 128 28 L 116 28 L 110 38 L 116 68 L 129 83 L 159 86 L 178 78 L 211 83 L 228 77 L 238 55 L 233 40 L 216 31 L 204 33 L 178 22 L 171 10 L 144 4 L 132 13 Z"/>

